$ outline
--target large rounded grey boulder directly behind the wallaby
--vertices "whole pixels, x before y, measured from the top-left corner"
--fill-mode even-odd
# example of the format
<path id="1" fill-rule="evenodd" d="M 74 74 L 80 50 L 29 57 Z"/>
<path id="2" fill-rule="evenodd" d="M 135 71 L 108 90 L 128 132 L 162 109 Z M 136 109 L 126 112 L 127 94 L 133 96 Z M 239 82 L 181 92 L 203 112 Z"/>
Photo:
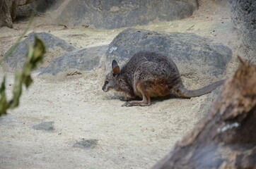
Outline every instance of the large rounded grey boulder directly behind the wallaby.
<path id="1" fill-rule="evenodd" d="M 228 46 L 195 34 L 129 28 L 117 35 L 107 49 L 106 71 L 110 70 L 113 59 L 122 65 L 142 50 L 172 58 L 182 76 L 201 80 L 220 78 L 232 56 Z"/>

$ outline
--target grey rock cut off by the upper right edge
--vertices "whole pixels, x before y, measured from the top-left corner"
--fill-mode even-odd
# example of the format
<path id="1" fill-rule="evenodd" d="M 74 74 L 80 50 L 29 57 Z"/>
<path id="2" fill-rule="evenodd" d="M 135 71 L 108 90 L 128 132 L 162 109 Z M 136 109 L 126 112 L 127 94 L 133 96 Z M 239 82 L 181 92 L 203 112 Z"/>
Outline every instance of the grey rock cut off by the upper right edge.
<path id="1" fill-rule="evenodd" d="M 240 37 L 241 54 L 256 63 L 256 1 L 229 0 L 231 20 Z"/>

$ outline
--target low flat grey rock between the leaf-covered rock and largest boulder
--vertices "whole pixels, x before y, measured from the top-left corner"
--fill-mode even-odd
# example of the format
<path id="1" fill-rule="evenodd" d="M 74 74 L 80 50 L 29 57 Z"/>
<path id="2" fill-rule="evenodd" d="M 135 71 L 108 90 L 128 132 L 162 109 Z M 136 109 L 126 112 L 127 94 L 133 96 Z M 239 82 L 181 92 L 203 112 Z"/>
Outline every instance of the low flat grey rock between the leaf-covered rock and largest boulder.
<path id="1" fill-rule="evenodd" d="M 55 58 L 40 75 L 50 73 L 57 75 L 59 72 L 66 70 L 92 70 L 100 66 L 100 60 L 105 55 L 108 45 L 95 46 L 86 49 L 80 49 L 70 54 L 64 54 Z"/>

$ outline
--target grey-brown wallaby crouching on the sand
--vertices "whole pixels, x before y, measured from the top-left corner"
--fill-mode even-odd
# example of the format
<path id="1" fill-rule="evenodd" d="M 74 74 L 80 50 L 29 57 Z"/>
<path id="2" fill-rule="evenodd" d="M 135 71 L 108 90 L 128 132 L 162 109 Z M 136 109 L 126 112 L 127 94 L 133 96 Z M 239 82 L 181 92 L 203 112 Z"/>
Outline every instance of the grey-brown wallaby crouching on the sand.
<path id="1" fill-rule="evenodd" d="M 112 70 L 105 78 L 103 91 L 115 89 L 124 93 L 122 106 L 149 106 L 151 97 L 167 96 L 171 91 L 185 98 L 202 96 L 223 84 L 224 80 L 214 82 L 196 90 L 185 89 L 175 63 L 164 56 L 151 51 L 140 51 L 120 69 L 117 61 L 112 61 Z M 136 96 L 142 101 L 129 101 Z"/>

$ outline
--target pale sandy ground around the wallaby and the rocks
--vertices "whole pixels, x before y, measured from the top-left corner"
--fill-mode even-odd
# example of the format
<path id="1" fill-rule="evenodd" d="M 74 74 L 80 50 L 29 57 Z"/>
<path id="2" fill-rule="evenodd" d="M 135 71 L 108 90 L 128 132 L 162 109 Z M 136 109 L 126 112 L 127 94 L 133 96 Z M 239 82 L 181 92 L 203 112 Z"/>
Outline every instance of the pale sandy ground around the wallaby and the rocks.
<path id="1" fill-rule="evenodd" d="M 233 61 L 226 73 L 231 75 L 238 64 L 235 58 L 238 44 L 228 8 L 211 1 L 200 5 L 185 20 L 155 21 L 137 28 L 194 32 L 226 44 L 233 49 Z M 40 23 L 45 17 L 47 14 L 37 16 L 30 30 L 50 32 L 77 48 L 110 44 L 124 30 L 64 29 Z M 0 57 L 21 35 L 26 23 L 18 21 L 14 29 L 0 28 Z M 151 106 L 127 108 L 121 107 L 123 103 L 114 92 L 101 90 L 103 66 L 58 80 L 42 79 L 37 74 L 33 73 L 33 85 L 24 90 L 21 106 L 0 118 L 0 168 L 150 168 L 203 118 L 211 101 L 207 95 L 154 99 Z M 8 76 L 10 98 L 13 73 L 0 68 L 1 80 L 3 75 Z M 197 88 L 200 84 L 190 87 Z M 54 122 L 52 132 L 32 127 L 47 121 Z M 74 142 L 87 139 L 98 142 L 91 148 L 74 146 Z"/>

